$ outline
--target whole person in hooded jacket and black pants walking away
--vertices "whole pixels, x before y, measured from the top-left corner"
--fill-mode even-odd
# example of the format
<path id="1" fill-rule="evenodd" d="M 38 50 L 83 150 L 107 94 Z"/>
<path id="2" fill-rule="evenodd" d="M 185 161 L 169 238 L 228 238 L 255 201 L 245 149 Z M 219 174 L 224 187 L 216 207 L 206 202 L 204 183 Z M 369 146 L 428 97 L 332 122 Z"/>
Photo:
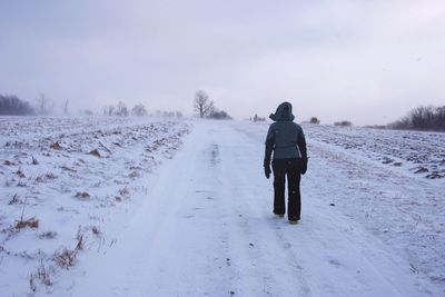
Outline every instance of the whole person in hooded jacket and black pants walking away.
<path id="1" fill-rule="evenodd" d="M 266 137 L 264 169 L 266 178 L 270 177 L 270 160 L 274 170 L 274 214 L 284 217 L 286 214 L 285 185 L 287 177 L 288 204 L 287 217 L 290 224 L 300 219 L 301 197 L 300 177 L 307 170 L 307 149 L 303 128 L 294 122 L 291 105 L 283 102 L 269 118 Z"/>

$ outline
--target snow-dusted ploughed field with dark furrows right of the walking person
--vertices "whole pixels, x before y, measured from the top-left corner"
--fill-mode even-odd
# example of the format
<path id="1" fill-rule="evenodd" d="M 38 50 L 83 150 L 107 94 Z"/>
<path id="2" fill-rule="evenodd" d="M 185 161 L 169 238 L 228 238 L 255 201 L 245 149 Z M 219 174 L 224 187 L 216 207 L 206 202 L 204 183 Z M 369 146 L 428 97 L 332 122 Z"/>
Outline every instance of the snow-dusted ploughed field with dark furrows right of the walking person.
<path id="1" fill-rule="evenodd" d="M 315 141 L 428 178 L 445 177 L 445 133 L 356 127 L 305 126 Z"/>

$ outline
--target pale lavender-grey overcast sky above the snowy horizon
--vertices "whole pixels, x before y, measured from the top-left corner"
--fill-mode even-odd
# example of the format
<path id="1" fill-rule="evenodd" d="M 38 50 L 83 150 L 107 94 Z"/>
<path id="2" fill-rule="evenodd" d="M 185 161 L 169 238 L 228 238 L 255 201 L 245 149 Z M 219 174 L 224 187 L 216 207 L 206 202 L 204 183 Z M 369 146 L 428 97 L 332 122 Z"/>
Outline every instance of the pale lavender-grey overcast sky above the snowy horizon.
<path id="1" fill-rule="evenodd" d="M 387 123 L 445 105 L 445 1 L 0 2 L 0 93 Z"/>

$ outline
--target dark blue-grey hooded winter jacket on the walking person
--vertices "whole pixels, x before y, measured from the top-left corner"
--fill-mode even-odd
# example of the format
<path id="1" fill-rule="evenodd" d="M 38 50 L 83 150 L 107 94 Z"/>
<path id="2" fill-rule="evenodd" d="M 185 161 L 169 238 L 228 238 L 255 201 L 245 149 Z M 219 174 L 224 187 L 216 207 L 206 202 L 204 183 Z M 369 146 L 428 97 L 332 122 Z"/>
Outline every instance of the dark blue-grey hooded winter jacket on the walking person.
<path id="1" fill-rule="evenodd" d="M 291 105 L 283 102 L 269 118 L 275 121 L 270 125 L 266 137 L 265 160 L 307 158 L 306 139 L 301 127 L 294 122 Z"/>

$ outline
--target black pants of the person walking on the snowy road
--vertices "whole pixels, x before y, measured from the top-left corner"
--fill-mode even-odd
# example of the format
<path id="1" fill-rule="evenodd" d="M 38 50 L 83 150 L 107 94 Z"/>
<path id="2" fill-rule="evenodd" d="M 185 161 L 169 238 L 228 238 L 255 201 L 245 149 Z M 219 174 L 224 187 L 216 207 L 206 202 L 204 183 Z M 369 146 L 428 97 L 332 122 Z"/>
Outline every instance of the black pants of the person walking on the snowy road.
<path id="1" fill-rule="evenodd" d="M 299 219 L 301 212 L 301 197 L 299 192 L 301 159 L 276 159 L 271 162 L 274 169 L 274 212 L 286 214 L 285 185 L 287 176 L 287 217 Z"/>

